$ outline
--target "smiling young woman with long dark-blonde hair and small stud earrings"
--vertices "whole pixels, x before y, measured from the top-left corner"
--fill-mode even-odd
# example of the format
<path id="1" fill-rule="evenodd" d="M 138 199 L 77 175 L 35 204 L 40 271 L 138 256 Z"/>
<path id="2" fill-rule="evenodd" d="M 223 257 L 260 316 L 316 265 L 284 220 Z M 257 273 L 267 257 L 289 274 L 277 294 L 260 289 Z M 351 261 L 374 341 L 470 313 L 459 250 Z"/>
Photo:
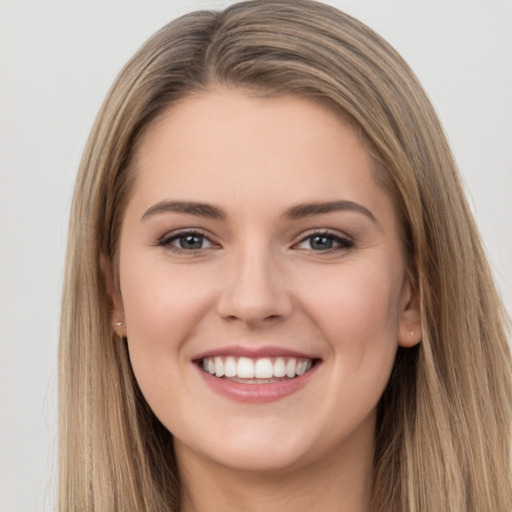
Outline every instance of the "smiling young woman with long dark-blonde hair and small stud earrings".
<path id="1" fill-rule="evenodd" d="M 310 1 L 164 27 L 72 210 L 62 510 L 509 510 L 506 317 L 436 115 Z"/>

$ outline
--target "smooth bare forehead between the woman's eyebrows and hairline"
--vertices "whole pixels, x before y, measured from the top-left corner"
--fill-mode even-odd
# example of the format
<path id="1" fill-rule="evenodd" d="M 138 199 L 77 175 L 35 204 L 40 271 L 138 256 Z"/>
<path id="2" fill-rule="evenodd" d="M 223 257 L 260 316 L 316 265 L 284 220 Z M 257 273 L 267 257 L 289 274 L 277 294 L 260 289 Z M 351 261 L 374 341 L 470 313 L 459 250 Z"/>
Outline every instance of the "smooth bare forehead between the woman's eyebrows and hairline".
<path id="1" fill-rule="evenodd" d="M 134 199 L 146 205 L 193 199 L 248 211 L 387 199 L 358 131 L 297 96 L 220 89 L 186 97 L 146 130 L 134 164 Z"/>

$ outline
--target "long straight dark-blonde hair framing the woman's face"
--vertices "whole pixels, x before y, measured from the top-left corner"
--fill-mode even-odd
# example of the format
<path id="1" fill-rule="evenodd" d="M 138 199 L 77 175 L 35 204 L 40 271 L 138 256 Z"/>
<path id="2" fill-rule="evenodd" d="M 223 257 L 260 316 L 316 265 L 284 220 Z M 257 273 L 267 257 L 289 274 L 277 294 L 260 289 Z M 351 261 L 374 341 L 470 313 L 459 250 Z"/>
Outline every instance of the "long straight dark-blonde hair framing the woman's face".
<path id="1" fill-rule="evenodd" d="M 508 320 L 437 116 L 378 35 L 309 0 L 185 15 L 130 60 L 97 117 L 72 206 L 60 339 L 61 512 L 179 510 L 171 434 L 112 332 L 131 156 L 156 117 L 212 84 L 329 106 L 360 130 L 401 219 L 422 340 L 379 403 L 373 510 L 512 510 Z"/>

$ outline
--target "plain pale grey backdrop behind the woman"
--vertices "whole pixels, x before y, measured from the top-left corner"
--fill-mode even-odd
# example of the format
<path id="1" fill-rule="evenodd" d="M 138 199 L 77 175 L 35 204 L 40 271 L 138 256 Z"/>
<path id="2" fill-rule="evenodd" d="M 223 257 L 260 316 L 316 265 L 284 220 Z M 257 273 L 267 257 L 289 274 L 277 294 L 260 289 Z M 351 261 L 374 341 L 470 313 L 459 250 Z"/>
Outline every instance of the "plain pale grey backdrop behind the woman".
<path id="1" fill-rule="evenodd" d="M 55 503 L 60 288 L 72 186 L 117 72 L 170 19 L 220 1 L 0 0 L 0 511 Z M 331 1 L 415 70 L 512 312 L 512 2 Z"/>

